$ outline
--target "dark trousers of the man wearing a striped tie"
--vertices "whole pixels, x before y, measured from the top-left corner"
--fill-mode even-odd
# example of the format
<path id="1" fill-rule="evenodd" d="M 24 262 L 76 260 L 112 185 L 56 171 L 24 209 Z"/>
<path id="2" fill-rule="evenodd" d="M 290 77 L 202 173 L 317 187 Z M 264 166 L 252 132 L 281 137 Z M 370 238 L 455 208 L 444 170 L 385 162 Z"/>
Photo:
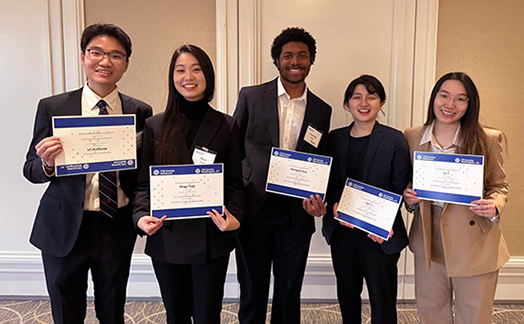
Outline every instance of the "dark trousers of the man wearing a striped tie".
<path id="1" fill-rule="evenodd" d="M 84 323 L 88 271 L 94 284 L 96 317 L 102 324 L 124 323 L 127 280 L 136 233 L 129 213 L 107 219 L 85 211 L 71 252 L 42 252 L 55 324 Z M 126 217 L 127 216 L 127 217 Z"/>

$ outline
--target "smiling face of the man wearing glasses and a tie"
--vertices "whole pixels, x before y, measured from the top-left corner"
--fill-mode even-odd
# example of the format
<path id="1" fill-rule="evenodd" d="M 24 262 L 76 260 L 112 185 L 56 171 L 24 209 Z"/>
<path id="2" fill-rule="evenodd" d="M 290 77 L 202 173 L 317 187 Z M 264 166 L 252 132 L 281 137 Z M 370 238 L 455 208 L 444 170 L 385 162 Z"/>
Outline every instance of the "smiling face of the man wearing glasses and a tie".
<path id="1" fill-rule="evenodd" d="M 120 42 L 111 36 L 100 35 L 93 37 L 87 44 L 86 52 L 81 54 L 81 62 L 87 76 L 89 88 L 101 97 L 105 97 L 116 87 L 124 72 L 126 72 L 129 62 L 127 59 L 121 63 L 111 62 L 108 55 L 103 55 L 102 60 L 94 60 L 90 57 L 88 50 L 96 49 L 105 53 L 127 54 Z"/>

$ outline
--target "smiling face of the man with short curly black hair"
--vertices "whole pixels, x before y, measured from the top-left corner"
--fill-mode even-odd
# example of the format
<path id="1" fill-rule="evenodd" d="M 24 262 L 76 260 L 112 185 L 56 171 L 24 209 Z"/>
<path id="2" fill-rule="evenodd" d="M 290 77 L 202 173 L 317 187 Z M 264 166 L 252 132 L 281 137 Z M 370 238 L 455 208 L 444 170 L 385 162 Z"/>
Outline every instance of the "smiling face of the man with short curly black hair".
<path id="1" fill-rule="evenodd" d="M 289 83 L 302 83 L 309 74 L 311 57 L 305 43 L 289 42 L 282 46 L 277 60 L 280 77 Z"/>

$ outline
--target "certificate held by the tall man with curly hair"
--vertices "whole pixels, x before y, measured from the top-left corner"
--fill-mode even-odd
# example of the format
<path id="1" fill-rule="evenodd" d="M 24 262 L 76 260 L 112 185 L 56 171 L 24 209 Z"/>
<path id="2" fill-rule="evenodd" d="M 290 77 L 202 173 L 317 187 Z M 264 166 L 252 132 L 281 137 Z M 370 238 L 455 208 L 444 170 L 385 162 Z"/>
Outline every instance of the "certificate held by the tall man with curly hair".
<path id="1" fill-rule="evenodd" d="M 271 150 L 266 191 L 296 198 L 326 196 L 331 157 L 303 152 Z"/>

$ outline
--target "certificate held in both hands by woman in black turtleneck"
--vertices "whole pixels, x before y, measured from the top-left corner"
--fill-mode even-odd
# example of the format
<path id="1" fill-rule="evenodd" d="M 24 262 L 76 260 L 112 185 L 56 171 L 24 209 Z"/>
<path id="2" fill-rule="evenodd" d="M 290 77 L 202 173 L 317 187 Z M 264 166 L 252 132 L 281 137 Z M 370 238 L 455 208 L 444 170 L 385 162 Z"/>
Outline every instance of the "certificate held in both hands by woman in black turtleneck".
<path id="1" fill-rule="evenodd" d="M 166 220 L 210 217 L 223 214 L 224 165 L 151 166 L 151 215 Z"/>

